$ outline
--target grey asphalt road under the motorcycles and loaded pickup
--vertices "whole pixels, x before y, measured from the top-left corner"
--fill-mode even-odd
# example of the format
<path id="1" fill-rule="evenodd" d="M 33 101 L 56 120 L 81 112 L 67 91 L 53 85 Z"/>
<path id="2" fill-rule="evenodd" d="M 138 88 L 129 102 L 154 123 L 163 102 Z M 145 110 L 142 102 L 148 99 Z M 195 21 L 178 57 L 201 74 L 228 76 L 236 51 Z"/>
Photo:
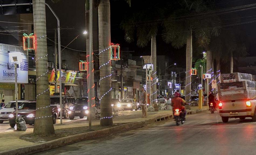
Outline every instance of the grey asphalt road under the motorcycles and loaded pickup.
<path id="1" fill-rule="evenodd" d="M 188 115 L 185 124 L 173 120 L 87 140 L 34 155 L 255 155 L 256 122 L 230 119 L 219 113 Z"/>

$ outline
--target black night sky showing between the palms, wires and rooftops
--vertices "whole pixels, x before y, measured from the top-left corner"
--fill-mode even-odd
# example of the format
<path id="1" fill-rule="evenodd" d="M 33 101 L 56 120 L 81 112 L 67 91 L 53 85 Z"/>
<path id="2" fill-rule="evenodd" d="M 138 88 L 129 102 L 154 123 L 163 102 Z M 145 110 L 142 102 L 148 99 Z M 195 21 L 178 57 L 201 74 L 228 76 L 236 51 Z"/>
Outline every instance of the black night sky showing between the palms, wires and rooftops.
<path id="1" fill-rule="evenodd" d="M 161 1 L 161 0 L 160 0 Z M 48 1 L 57 15 L 60 17 L 62 27 L 74 27 L 74 30 L 61 30 L 62 45 L 67 45 L 74 37 L 80 34 L 85 27 L 85 5 L 84 0 L 62 0 L 59 3 L 52 4 Z M 241 6 L 256 3 L 256 0 L 216 0 L 216 9 L 230 8 L 233 6 Z M 111 42 L 119 43 L 122 49 L 129 48 L 129 51 L 135 51 L 134 56 L 150 55 L 150 42 L 145 48 L 139 48 L 136 46 L 136 41 L 128 44 L 124 41 L 124 31 L 120 28 L 120 22 L 124 15 L 128 12 L 129 5 L 123 0 L 114 1 L 110 0 L 111 10 Z M 225 19 L 222 24 L 233 24 L 242 21 L 254 21 L 256 20 L 256 8 L 248 9 L 238 12 L 225 13 L 220 15 L 221 19 Z M 241 18 L 242 17 L 242 18 Z M 247 18 L 244 18 L 247 17 Z M 232 20 L 230 20 L 232 19 Z M 242 22 L 241 21 L 241 22 Z M 49 37 L 53 39 L 53 27 L 56 27 L 56 20 L 53 15 L 47 9 L 47 34 L 51 33 Z M 250 56 L 256 56 L 256 45 L 254 41 L 256 39 L 256 22 L 247 23 L 243 25 L 233 26 L 238 28 L 241 33 L 245 34 L 246 42 L 248 44 L 248 53 Z M 226 27 L 229 28 L 229 27 Z M 157 35 L 157 55 L 166 55 L 172 62 L 179 62 L 181 66 L 185 64 L 185 47 L 181 49 L 174 49 L 171 44 L 166 44 L 162 41 L 161 28 Z M 79 37 L 75 40 L 70 47 L 74 49 L 84 50 L 85 49 L 85 38 L 84 36 Z M 181 67 L 180 66 L 180 67 Z"/>

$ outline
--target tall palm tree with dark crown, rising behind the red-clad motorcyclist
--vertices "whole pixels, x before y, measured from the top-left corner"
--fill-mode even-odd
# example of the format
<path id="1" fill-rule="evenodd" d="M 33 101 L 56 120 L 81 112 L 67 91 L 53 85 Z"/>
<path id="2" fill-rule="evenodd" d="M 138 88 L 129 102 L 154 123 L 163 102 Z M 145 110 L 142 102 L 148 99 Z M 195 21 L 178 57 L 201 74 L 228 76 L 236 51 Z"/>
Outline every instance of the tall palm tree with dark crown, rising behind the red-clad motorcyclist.
<path id="1" fill-rule="evenodd" d="M 212 24 L 211 15 L 202 15 L 207 11 L 209 3 L 203 0 L 184 0 L 179 9 L 168 16 L 164 22 L 163 39 L 172 43 L 175 48 L 181 48 L 186 44 L 186 87 L 185 100 L 190 102 L 192 67 L 192 36 L 195 36 L 199 46 L 205 47 L 210 42 L 211 35 L 218 35 L 218 25 Z M 193 16 L 192 16 L 192 15 Z"/>

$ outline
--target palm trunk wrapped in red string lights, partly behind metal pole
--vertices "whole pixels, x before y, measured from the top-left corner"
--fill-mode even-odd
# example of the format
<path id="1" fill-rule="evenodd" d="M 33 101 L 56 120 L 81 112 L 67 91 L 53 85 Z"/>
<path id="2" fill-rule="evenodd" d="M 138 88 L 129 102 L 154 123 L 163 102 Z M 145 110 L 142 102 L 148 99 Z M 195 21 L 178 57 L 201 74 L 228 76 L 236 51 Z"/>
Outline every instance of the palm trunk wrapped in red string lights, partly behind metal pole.
<path id="1" fill-rule="evenodd" d="M 86 31 L 88 32 L 87 33 L 87 35 L 86 35 L 86 62 L 88 63 L 87 64 L 87 75 L 89 75 L 89 54 L 90 54 L 90 39 L 89 39 L 89 36 L 90 36 L 90 31 L 89 31 L 89 24 L 90 24 L 90 22 L 89 22 L 89 20 L 90 20 L 90 3 L 89 3 L 89 0 L 86 0 L 85 1 L 85 27 L 86 27 Z M 92 57 L 92 61 L 93 61 L 93 57 Z M 92 81 L 94 81 L 94 72 L 92 72 L 91 74 L 90 74 L 90 76 L 92 76 Z M 93 86 L 93 88 L 89 88 L 89 83 L 88 83 L 88 80 L 89 79 L 87 79 L 87 90 L 90 90 L 91 91 L 91 93 L 92 93 L 92 97 L 93 97 L 93 99 L 92 99 L 92 106 L 94 106 L 94 96 L 95 96 L 95 94 L 94 94 L 94 83 L 92 83 L 92 86 Z M 95 110 L 94 110 L 94 108 L 92 108 L 91 109 L 91 113 L 92 114 L 95 114 Z M 87 117 L 88 118 L 88 117 Z M 95 119 L 95 117 L 93 117 L 93 116 L 91 116 L 91 118 L 93 118 L 93 119 Z"/>

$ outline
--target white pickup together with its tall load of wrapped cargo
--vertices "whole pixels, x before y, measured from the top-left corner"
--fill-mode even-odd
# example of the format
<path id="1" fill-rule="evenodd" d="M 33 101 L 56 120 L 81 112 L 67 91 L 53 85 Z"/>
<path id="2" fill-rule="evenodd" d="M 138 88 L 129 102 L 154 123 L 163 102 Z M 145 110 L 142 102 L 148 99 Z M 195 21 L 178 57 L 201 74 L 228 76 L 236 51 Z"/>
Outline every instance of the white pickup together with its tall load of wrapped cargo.
<path id="1" fill-rule="evenodd" d="M 223 122 L 229 118 L 251 117 L 256 121 L 256 82 L 251 74 L 229 73 L 220 74 L 218 96 L 219 110 Z"/>

